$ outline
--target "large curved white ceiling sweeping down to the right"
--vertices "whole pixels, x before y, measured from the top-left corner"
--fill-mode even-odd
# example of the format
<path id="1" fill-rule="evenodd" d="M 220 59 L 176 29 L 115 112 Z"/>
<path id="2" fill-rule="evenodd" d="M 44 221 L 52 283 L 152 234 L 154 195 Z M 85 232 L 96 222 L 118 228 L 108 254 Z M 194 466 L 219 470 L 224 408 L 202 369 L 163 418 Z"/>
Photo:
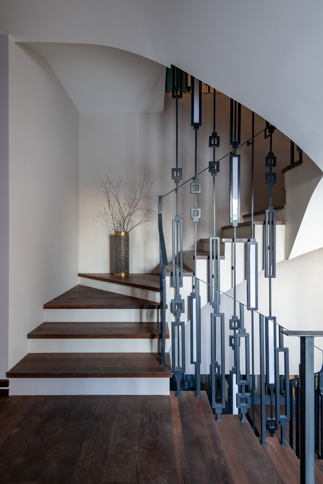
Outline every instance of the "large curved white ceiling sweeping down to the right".
<path id="1" fill-rule="evenodd" d="M 113 46 L 177 65 L 268 119 L 319 165 L 321 0 L 10 0 L 19 42 Z"/>

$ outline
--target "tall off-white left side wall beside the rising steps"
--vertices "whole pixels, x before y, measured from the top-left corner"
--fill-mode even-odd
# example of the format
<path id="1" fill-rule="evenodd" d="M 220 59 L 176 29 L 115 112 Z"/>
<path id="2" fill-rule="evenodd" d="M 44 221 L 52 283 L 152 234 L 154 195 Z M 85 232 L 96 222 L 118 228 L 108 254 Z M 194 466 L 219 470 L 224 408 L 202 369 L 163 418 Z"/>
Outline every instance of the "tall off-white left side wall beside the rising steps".
<path id="1" fill-rule="evenodd" d="M 9 162 L 11 367 L 78 271 L 78 111 L 46 61 L 11 39 Z"/>

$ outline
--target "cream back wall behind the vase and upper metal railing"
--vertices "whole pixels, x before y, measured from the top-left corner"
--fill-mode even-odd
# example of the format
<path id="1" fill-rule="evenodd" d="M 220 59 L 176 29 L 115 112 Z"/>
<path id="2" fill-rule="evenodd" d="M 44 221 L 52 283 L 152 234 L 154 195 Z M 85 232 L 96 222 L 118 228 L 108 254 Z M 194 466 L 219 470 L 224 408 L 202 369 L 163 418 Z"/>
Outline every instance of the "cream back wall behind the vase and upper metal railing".
<path id="1" fill-rule="evenodd" d="M 220 135 L 220 148 L 216 159 L 231 151 L 229 144 L 230 99 L 219 93 L 216 102 L 216 130 Z M 213 150 L 208 147 L 208 137 L 213 131 L 213 94 L 203 94 L 202 127 L 198 131 L 198 172 L 208 167 L 213 159 Z M 190 126 L 190 95 L 179 100 L 179 167 L 183 168 L 183 181 L 194 176 L 195 134 Z M 175 188 L 171 169 L 175 158 L 176 101 L 165 95 L 163 113 L 80 113 L 80 271 L 113 272 L 113 236 L 104 220 L 97 218 L 102 213 L 103 197 L 99 184 L 107 174 L 113 181 L 122 176 L 122 186 L 132 193 L 140 181 L 144 169 L 151 169 L 156 182 L 152 191 L 152 207 L 157 209 L 159 195 Z M 241 141 L 251 137 L 251 111 L 242 107 Z M 255 132 L 261 131 L 265 122 L 255 116 Z M 282 190 L 284 178 L 281 168 L 289 164 L 289 140 L 278 130 L 273 137 L 273 150 L 277 155 L 277 185 L 273 190 L 273 203 L 285 201 Z M 261 133 L 255 139 L 255 210 L 269 203 L 269 190 L 264 184 L 265 155 L 269 151 L 269 140 Z M 243 147 L 241 153 L 241 214 L 251 211 L 251 147 Z M 198 223 L 198 239 L 208 237 L 212 230 L 212 177 L 208 169 L 199 176 L 202 195 L 198 206 L 202 208 L 202 219 Z M 229 223 L 229 157 L 220 162 L 220 173 L 216 181 L 216 227 L 220 233 L 222 225 Z M 185 249 L 194 244 L 194 224 L 190 220 L 190 208 L 194 196 L 187 183 L 180 189 L 180 215 L 184 219 Z M 175 193 L 164 198 L 164 231 L 168 257 L 171 258 L 171 220 L 175 215 Z M 152 271 L 159 263 L 159 241 L 157 220 L 143 224 L 130 234 L 130 271 Z M 169 259 L 170 260 L 170 259 Z"/>

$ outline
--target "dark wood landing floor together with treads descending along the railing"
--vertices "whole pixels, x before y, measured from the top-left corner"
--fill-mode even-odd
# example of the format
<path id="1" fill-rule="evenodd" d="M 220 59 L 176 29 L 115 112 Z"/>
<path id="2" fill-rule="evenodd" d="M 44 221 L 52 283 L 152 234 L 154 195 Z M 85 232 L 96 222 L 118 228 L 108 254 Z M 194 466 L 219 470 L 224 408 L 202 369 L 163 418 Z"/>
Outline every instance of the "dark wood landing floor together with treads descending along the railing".
<path id="1" fill-rule="evenodd" d="M 277 439 L 262 447 L 238 416 L 215 422 L 205 392 L 182 395 L 0 398 L 0 483 L 299 482 Z"/>

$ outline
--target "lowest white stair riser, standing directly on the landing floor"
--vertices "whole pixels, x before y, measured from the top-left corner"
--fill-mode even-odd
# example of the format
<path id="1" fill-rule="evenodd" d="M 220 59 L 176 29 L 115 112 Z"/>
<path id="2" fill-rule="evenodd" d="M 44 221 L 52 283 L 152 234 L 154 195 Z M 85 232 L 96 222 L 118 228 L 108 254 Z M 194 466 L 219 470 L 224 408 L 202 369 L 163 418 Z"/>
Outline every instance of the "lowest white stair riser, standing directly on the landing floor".
<path id="1" fill-rule="evenodd" d="M 11 378 L 10 395 L 169 395 L 169 378 Z"/>

